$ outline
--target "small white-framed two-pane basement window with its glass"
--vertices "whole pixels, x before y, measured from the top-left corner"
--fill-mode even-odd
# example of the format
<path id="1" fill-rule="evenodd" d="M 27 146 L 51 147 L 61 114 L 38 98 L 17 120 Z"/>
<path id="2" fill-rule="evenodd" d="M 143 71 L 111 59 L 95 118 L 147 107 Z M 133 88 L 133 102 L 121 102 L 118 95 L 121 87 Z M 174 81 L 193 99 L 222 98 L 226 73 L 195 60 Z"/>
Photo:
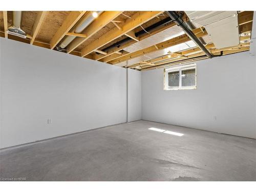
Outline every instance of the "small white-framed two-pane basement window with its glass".
<path id="1" fill-rule="evenodd" d="M 197 88 L 196 64 L 164 69 L 164 90 Z"/>

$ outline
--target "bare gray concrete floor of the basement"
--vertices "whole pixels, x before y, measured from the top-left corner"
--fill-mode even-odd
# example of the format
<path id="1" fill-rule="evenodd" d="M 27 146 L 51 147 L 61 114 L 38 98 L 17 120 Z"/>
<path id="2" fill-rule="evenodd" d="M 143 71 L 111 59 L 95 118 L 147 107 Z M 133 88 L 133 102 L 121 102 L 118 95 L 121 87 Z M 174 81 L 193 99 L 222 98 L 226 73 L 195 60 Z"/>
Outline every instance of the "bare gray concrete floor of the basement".
<path id="1" fill-rule="evenodd" d="M 184 134 L 179 137 L 150 127 Z M 256 181 L 256 140 L 135 121 L 0 152 L 31 181 Z"/>

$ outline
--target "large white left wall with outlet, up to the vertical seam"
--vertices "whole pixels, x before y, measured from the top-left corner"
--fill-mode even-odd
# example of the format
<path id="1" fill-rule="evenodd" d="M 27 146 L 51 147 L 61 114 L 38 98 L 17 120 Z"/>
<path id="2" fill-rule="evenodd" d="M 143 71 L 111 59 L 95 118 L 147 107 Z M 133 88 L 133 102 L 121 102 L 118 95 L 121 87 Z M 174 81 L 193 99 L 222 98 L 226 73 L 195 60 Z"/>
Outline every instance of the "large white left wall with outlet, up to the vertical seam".
<path id="1" fill-rule="evenodd" d="M 126 122 L 126 69 L 5 38 L 0 47 L 0 148 Z"/>

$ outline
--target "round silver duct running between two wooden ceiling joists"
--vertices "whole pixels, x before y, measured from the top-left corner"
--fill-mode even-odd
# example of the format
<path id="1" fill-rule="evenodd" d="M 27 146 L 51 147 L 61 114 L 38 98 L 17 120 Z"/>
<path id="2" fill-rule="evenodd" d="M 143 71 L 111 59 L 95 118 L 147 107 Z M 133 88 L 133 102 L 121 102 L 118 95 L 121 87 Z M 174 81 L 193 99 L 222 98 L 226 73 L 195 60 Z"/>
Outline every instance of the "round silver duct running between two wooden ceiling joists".
<path id="1" fill-rule="evenodd" d="M 91 11 L 88 14 L 84 15 L 84 17 L 79 21 L 77 26 L 71 31 L 72 33 L 81 33 L 84 29 L 86 29 L 93 21 L 94 19 L 100 15 L 103 11 Z M 59 46 L 56 47 L 58 50 L 65 49 L 72 40 L 74 40 L 76 36 L 66 36 L 63 38 L 63 40 L 60 42 Z"/>

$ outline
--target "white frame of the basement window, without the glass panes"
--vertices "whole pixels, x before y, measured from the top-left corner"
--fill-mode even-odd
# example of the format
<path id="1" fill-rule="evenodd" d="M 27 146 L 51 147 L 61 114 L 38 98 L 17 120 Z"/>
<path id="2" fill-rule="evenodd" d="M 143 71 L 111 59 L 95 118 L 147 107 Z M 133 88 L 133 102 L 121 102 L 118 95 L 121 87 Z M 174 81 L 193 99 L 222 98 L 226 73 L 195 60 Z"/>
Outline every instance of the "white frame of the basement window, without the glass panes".
<path id="1" fill-rule="evenodd" d="M 195 69 L 196 84 L 195 84 L 195 86 L 182 87 L 182 76 L 181 76 L 181 74 L 182 74 L 183 70 L 188 70 L 188 69 Z M 170 86 L 168 86 L 168 73 L 169 72 L 179 72 L 179 87 L 170 87 Z M 164 90 L 189 90 L 189 89 L 197 89 L 197 65 L 196 65 L 196 63 L 190 64 L 190 65 L 184 65 L 184 66 L 164 69 Z"/>

